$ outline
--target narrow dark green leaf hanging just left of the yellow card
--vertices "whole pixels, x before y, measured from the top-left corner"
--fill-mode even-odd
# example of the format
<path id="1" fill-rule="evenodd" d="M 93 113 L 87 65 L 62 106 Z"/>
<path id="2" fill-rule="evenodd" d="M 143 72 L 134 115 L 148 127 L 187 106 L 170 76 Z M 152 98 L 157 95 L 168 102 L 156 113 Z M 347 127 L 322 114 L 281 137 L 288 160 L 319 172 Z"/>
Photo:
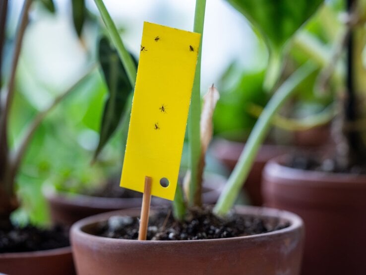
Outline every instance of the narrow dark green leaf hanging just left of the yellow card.
<path id="1" fill-rule="evenodd" d="M 137 61 L 133 60 L 137 65 Z M 102 37 L 99 41 L 99 62 L 108 87 L 108 98 L 104 105 L 99 144 L 94 154 L 94 160 L 118 127 L 124 106 L 132 91 L 118 53 L 111 47 L 106 37 Z"/>

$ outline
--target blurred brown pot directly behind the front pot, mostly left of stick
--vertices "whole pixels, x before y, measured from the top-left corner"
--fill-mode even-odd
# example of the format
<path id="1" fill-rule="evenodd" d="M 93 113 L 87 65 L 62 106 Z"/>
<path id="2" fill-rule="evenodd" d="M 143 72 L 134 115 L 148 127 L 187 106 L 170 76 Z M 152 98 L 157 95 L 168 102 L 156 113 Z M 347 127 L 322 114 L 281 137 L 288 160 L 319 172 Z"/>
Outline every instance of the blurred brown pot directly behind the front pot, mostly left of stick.
<path id="1" fill-rule="evenodd" d="M 226 179 L 220 175 L 207 174 L 203 184 L 203 202 L 216 203 Z M 54 223 L 72 225 L 79 219 L 113 210 L 136 208 L 141 206 L 141 198 L 102 198 L 86 195 L 56 193 L 52 190 L 44 192 Z M 169 205 L 171 201 L 153 197 L 152 206 Z"/>

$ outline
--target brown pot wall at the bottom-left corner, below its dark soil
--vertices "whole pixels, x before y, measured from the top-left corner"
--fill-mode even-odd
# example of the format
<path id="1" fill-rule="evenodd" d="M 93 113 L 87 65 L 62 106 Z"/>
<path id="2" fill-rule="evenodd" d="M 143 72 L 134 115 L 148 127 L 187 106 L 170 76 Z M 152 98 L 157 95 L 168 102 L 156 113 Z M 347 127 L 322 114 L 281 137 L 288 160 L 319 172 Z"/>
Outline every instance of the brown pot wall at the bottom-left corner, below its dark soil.
<path id="1" fill-rule="evenodd" d="M 74 275 L 71 248 L 0 254 L 0 274 Z"/>

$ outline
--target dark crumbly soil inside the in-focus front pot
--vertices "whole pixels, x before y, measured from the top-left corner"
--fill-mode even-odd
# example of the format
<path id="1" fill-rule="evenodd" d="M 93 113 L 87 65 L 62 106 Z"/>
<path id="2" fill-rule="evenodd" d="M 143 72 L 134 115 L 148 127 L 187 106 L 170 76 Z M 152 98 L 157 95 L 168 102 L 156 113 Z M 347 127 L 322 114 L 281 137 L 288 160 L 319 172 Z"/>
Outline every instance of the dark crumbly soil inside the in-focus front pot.
<path id="1" fill-rule="evenodd" d="M 277 218 L 261 218 L 231 213 L 225 218 L 214 215 L 210 208 L 191 209 L 187 218 L 176 221 L 170 209 L 150 216 L 147 240 L 200 240 L 254 235 L 288 227 L 288 222 Z M 137 217 L 112 216 L 98 225 L 95 235 L 136 240 Z"/>

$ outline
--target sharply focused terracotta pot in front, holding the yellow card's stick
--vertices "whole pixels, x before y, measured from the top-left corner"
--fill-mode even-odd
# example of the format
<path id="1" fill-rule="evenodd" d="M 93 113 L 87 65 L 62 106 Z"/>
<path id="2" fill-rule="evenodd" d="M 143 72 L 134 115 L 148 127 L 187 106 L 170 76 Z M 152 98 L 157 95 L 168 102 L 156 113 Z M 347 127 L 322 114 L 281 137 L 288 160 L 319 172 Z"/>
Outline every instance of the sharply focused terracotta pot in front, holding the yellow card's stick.
<path id="1" fill-rule="evenodd" d="M 297 275 L 303 246 L 303 222 L 277 209 L 241 206 L 239 214 L 278 217 L 290 222 L 281 230 L 252 236 L 194 241 L 137 241 L 90 234 L 96 224 L 116 214 L 99 214 L 76 222 L 71 243 L 79 275 L 100 274 L 240 274 Z"/>

